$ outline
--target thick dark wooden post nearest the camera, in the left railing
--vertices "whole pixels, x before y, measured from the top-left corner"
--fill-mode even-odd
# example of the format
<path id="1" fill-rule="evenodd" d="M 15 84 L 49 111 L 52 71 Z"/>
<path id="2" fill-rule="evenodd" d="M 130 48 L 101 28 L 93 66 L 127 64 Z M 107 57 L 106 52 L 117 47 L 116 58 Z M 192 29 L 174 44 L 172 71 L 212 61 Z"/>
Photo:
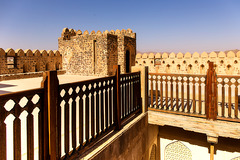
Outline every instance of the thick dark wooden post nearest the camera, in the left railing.
<path id="1" fill-rule="evenodd" d="M 59 159 L 57 151 L 57 99 L 59 81 L 57 71 L 47 71 L 43 74 L 42 87 L 44 87 L 45 102 L 44 102 L 44 156 L 46 159 Z M 47 112 L 47 113 L 46 113 Z M 46 131 L 48 128 L 48 131 Z M 46 135 L 48 133 L 48 135 Z M 48 142 L 48 146 L 46 144 Z M 58 142 L 60 143 L 60 142 Z M 47 147 L 47 148 L 45 148 Z M 49 154 L 46 151 L 49 150 Z M 59 148 L 58 148 L 59 150 Z M 44 157 L 45 159 L 45 157 Z"/>

